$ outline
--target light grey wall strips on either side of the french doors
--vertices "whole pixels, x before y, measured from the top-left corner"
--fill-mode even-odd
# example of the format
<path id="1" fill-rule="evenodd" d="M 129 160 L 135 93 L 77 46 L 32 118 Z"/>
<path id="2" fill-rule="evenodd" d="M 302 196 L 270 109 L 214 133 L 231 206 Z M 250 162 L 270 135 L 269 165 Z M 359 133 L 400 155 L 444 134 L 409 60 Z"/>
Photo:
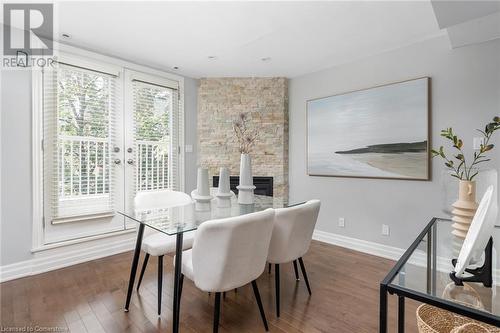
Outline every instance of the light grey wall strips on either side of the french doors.
<path id="1" fill-rule="evenodd" d="M 31 72 L 1 75 L 0 266 L 29 260 L 32 235 Z M 186 144 L 196 145 L 197 80 L 185 78 Z M 196 151 L 196 146 L 194 147 Z M 196 156 L 186 153 L 186 191 L 196 187 Z"/>

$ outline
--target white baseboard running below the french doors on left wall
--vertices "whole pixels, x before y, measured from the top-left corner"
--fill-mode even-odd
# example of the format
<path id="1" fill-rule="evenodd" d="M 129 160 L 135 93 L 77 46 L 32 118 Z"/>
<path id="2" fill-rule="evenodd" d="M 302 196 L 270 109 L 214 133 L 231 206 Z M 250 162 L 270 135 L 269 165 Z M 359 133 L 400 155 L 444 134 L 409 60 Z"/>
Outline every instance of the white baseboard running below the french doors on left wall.
<path id="1" fill-rule="evenodd" d="M 0 282 L 40 274 L 82 262 L 130 251 L 135 233 L 37 252 L 32 259 L 0 266 Z"/>

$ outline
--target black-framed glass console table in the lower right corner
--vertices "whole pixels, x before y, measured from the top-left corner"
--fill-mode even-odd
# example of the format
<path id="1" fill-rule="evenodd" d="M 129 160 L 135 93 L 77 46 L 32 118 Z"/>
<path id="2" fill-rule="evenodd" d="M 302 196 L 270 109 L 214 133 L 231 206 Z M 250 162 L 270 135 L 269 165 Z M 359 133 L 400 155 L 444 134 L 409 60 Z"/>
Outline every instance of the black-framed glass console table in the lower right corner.
<path id="1" fill-rule="evenodd" d="M 461 241 L 451 231 L 452 222 L 433 218 L 393 269 L 380 283 L 380 332 L 387 332 L 388 294 L 398 297 L 398 332 L 404 332 L 405 297 L 427 303 L 459 315 L 500 326 L 500 286 L 481 283 L 455 286 L 449 273 L 451 260 L 458 257 Z M 493 272 L 497 266 L 493 253 Z"/>

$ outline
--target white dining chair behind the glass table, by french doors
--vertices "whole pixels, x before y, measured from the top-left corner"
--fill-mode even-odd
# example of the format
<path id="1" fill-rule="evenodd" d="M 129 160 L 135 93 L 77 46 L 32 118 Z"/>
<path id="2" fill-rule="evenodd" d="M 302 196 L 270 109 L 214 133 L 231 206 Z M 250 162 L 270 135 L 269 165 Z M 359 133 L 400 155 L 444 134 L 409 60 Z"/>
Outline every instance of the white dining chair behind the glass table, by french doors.
<path id="1" fill-rule="evenodd" d="M 191 203 L 191 197 L 184 192 L 171 190 L 141 191 L 134 198 L 134 208 L 138 211 L 158 208 L 169 208 Z M 163 281 L 163 256 L 175 252 L 175 236 L 169 236 L 162 232 L 147 228 L 147 233 L 142 240 L 142 250 L 146 253 L 142 264 L 141 274 L 137 282 L 137 291 L 141 286 L 149 256 L 158 257 L 158 315 L 161 313 L 161 293 Z M 183 249 L 189 249 L 193 245 L 194 232 L 184 233 Z"/>

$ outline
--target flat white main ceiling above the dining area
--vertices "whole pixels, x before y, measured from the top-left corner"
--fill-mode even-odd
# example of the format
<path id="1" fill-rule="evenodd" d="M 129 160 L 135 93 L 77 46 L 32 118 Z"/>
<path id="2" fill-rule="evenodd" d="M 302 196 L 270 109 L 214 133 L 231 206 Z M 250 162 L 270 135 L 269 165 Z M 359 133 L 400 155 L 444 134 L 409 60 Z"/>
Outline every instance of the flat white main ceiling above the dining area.
<path id="1" fill-rule="evenodd" d="M 440 33 L 429 1 L 60 2 L 56 13 L 66 43 L 190 77 L 294 77 Z"/>

